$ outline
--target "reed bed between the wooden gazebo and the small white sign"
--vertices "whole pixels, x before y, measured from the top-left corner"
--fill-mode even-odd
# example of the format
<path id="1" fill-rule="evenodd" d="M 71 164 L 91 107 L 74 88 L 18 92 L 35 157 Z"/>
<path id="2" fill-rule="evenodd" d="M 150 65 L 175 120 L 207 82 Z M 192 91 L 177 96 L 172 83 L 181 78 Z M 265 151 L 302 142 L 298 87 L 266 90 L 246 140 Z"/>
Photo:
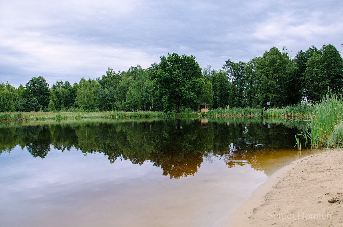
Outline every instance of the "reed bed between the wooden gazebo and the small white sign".
<path id="1" fill-rule="evenodd" d="M 262 116 L 262 110 L 258 108 L 218 108 L 209 110 L 207 113 L 200 113 L 200 116 L 213 116 L 213 117 L 257 117 Z"/>

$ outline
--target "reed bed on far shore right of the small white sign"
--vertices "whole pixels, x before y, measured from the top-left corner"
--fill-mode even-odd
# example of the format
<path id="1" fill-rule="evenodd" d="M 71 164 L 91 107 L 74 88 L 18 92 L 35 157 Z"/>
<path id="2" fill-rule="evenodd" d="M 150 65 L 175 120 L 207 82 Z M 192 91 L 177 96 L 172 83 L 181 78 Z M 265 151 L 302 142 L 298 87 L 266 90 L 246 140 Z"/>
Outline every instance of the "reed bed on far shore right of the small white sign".
<path id="1" fill-rule="evenodd" d="M 314 106 L 304 103 L 289 105 L 285 108 L 271 108 L 263 112 L 263 117 L 308 118 L 314 112 Z"/>

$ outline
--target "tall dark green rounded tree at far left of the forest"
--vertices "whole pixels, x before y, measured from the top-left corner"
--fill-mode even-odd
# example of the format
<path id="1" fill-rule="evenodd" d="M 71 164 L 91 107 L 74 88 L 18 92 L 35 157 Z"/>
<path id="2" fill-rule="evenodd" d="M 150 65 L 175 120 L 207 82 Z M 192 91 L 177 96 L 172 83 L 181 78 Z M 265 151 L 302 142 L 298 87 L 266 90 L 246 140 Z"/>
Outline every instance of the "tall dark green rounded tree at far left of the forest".
<path id="1" fill-rule="evenodd" d="M 25 98 L 26 103 L 36 98 L 39 105 L 46 107 L 50 102 L 49 84 L 42 76 L 32 77 L 27 82 L 22 97 Z"/>

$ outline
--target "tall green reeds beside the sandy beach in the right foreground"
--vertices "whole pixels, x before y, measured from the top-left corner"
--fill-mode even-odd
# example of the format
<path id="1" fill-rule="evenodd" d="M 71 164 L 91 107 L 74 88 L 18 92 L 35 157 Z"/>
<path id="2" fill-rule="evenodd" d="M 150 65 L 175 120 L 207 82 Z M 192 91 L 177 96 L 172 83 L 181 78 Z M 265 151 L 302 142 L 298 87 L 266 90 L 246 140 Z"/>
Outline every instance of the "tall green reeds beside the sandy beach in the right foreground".
<path id="1" fill-rule="evenodd" d="M 343 147 L 343 97 L 342 93 L 327 94 L 320 103 L 314 104 L 309 130 L 311 148 Z"/>

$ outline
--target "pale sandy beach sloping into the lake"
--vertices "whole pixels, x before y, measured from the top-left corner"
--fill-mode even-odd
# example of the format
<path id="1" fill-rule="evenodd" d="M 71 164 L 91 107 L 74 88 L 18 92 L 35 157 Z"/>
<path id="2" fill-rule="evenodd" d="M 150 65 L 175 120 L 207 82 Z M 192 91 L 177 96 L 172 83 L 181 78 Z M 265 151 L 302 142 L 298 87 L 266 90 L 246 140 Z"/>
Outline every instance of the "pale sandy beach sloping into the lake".
<path id="1" fill-rule="evenodd" d="M 277 170 L 226 226 L 343 226 L 343 150 Z"/>

